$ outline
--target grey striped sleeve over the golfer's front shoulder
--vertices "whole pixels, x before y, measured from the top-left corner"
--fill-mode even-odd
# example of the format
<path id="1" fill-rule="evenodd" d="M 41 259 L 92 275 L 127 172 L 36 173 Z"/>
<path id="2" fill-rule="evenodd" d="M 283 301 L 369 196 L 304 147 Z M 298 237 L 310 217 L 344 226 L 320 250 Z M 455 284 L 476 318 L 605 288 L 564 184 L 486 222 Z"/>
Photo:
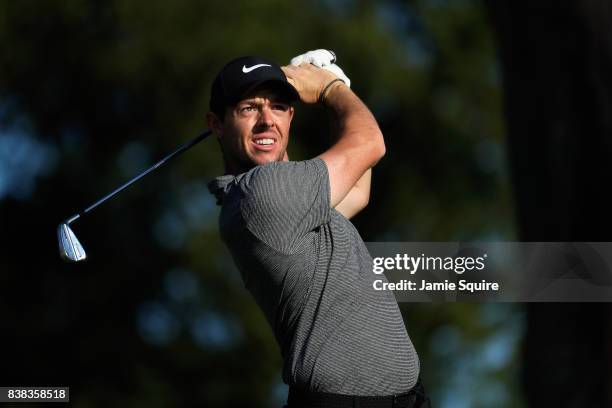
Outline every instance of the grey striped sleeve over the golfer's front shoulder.
<path id="1" fill-rule="evenodd" d="M 329 175 L 320 158 L 258 166 L 244 181 L 246 226 L 279 251 L 291 252 L 307 233 L 330 221 Z"/>

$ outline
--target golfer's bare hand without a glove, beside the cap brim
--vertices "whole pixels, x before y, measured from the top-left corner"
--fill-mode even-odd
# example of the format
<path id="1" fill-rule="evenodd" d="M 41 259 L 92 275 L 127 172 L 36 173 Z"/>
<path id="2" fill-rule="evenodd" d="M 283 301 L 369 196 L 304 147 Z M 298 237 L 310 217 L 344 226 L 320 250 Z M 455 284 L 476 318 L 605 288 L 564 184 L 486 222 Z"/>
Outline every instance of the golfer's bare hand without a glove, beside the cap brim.
<path id="1" fill-rule="evenodd" d="M 317 103 L 321 92 L 334 79 L 338 77 L 331 71 L 317 68 L 312 64 L 301 64 L 299 66 L 287 65 L 282 67 L 287 76 L 287 81 L 298 91 L 300 99 L 304 103 Z M 342 85 L 342 82 L 332 84 L 332 87 Z M 329 93 L 331 89 L 328 89 Z"/>

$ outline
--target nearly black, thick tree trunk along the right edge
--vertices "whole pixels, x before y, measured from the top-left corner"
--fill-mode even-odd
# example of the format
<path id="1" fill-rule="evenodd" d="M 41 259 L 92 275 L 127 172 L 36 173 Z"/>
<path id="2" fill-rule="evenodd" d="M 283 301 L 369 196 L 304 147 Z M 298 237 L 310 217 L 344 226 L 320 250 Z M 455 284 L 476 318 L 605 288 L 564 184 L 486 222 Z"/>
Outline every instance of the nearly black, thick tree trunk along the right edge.
<path id="1" fill-rule="evenodd" d="M 612 8 L 490 1 L 521 240 L 610 241 Z M 612 309 L 529 304 L 531 406 L 612 406 Z"/>

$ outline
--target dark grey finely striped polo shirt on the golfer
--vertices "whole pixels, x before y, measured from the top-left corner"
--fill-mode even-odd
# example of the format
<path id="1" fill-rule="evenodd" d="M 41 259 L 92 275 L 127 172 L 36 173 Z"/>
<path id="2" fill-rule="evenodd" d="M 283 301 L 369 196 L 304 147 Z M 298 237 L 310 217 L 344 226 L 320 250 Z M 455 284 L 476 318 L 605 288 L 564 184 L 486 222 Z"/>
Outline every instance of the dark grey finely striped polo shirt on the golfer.
<path id="1" fill-rule="evenodd" d="M 319 158 L 257 166 L 209 185 L 221 237 L 283 356 L 283 380 L 309 391 L 388 395 L 419 360 L 390 291 L 375 291 L 359 233 L 330 208 Z"/>

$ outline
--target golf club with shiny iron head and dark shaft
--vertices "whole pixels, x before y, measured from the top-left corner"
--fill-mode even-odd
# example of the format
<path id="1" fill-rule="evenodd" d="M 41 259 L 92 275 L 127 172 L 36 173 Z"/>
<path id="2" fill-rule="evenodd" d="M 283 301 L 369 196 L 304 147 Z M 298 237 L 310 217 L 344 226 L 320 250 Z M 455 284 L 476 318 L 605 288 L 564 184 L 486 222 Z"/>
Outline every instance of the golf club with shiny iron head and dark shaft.
<path id="1" fill-rule="evenodd" d="M 93 210 L 94 208 L 96 208 L 97 206 L 99 206 L 100 204 L 108 200 L 109 198 L 114 197 L 121 191 L 125 190 L 132 184 L 136 183 L 138 180 L 140 180 L 147 174 L 151 173 L 153 170 L 157 169 L 158 167 L 160 167 L 162 164 L 166 163 L 170 159 L 174 158 L 175 156 L 178 156 L 184 151 L 195 146 L 196 144 L 204 140 L 207 136 L 209 136 L 210 133 L 211 133 L 210 130 L 207 130 L 206 132 L 200 134 L 199 136 L 195 137 L 191 141 L 185 143 L 183 146 L 179 147 L 178 149 L 176 149 L 175 151 L 173 151 L 172 153 L 170 153 L 169 155 L 167 155 L 166 157 L 164 157 L 163 159 L 161 159 L 160 161 L 158 161 L 153 166 L 149 167 L 147 170 L 143 171 L 136 177 L 132 178 L 131 180 L 129 180 L 128 182 L 120 186 L 119 188 L 115 189 L 111 193 L 102 197 L 101 199 L 99 199 L 98 201 L 96 201 L 95 203 L 87 207 L 86 209 L 84 209 L 82 212 L 73 215 L 72 217 L 66 219 L 63 223 L 61 223 L 57 227 L 57 239 L 59 241 L 59 249 L 60 249 L 61 257 L 64 260 L 69 261 L 69 262 L 79 262 L 87 258 L 87 254 L 85 253 L 85 250 L 83 249 L 83 246 L 77 239 L 76 235 L 70 228 L 70 224 L 72 224 L 74 221 L 81 218 L 83 215 L 89 213 L 91 210 Z"/>

